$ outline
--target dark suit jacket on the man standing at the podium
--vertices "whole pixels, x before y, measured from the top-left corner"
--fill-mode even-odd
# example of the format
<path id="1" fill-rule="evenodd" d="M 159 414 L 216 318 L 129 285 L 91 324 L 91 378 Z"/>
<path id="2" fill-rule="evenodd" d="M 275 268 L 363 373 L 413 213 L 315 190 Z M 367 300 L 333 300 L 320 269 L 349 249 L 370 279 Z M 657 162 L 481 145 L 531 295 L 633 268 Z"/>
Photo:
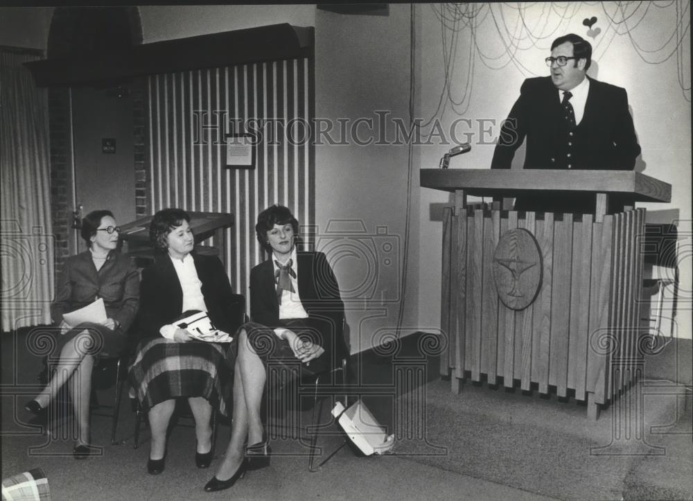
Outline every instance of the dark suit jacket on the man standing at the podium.
<path id="1" fill-rule="evenodd" d="M 589 78 L 589 77 L 588 77 Z M 572 157 L 572 169 L 632 170 L 640 146 L 628 109 L 626 90 L 589 78 L 590 90 L 579 124 L 582 140 Z M 526 169 L 565 168 L 561 137 L 561 100 L 551 77 L 528 78 L 520 97 L 502 125 L 491 168 L 510 168 L 516 150 L 527 140 Z M 594 211 L 594 197 L 553 194 L 518 198 L 516 209 L 573 212 L 572 206 Z M 585 206 L 585 204 L 587 206 Z M 582 211 L 582 210 L 578 210 Z"/>

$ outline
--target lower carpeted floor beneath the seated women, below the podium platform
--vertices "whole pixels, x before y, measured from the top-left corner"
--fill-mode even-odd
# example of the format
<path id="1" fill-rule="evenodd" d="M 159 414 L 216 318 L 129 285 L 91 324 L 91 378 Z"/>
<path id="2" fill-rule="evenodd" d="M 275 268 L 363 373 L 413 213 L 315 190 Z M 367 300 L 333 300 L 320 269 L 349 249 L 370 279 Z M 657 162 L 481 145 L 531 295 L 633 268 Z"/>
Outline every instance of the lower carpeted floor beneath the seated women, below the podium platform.
<path id="1" fill-rule="evenodd" d="M 8 407 L 3 406 L 3 411 Z M 94 416 L 92 424 L 95 443 L 107 444 L 109 419 Z M 209 494 L 202 491 L 202 486 L 213 475 L 213 468 L 223 453 L 229 437 L 226 425 L 220 425 L 218 454 L 209 470 L 195 468 L 193 430 L 175 427 L 169 441 L 166 470 L 157 476 L 146 473 L 148 432 L 143 431 L 143 443 L 134 450 L 132 425 L 132 415 L 125 414 L 121 421 L 123 429 L 118 434 L 125 443 L 104 445 L 102 456 L 83 461 L 72 459 L 69 437 L 6 435 L 2 443 L 3 476 L 42 468 L 53 500 L 550 499 L 412 462 L 408 456 L 359 457 L 349 448 L 337 452 L 321 471 L 309 473 L 306 449 L 296 439 L 281 438 L 272 441 L 269 468 L 249 472 L 229 491 Z M 326 450 L 339 444 L 340 437 L 324 437 L 321 442 Z M 30 449 L 44 445 L 40 451 Z M 42 455 L 36 455 L 37 452 Z"/>

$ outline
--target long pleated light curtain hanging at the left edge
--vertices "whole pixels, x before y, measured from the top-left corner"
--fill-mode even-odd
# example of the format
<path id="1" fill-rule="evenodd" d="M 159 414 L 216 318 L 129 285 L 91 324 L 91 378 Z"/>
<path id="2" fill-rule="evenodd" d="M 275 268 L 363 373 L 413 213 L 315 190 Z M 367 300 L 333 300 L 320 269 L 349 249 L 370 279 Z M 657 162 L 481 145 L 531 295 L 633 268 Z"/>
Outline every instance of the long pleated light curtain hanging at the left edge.
<path id="1" fill-rule="evenodd" d="M 55 244 L 51 227 L 48 102 L 23 62 L 0 49 L 0 291 L 2 331 L 51 322 Z"/>

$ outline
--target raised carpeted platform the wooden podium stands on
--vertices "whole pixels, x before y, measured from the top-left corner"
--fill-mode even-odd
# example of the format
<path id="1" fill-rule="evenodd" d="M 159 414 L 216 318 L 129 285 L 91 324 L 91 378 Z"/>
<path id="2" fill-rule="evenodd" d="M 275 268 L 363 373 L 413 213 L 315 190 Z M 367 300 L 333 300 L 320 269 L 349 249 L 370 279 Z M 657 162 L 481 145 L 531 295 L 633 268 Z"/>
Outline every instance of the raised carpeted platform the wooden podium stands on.
<path id="1" fill-rule="evenodd" d="M 402 398 L 416 401 L 422 393 Z M 589 421 L 574 401 L 486 385 L 466 385 L 452 395 L 449 383 L 435 381 L 425 388 L 426 440 L 400 441 L 396 453 L 552 498 L 635 499 L 649 493 L 652 499 L 691 499 L 690 410 L 682 412 L 681 402 L 677 408 L 676 397 L 644 393 L 642 413 L 622 418 L 610 408 Z M 651 432 L 677 419 L 674 431 L 681 434 Z M 446 453 L 418 455 L 432 446 L 444 446 Z"/>

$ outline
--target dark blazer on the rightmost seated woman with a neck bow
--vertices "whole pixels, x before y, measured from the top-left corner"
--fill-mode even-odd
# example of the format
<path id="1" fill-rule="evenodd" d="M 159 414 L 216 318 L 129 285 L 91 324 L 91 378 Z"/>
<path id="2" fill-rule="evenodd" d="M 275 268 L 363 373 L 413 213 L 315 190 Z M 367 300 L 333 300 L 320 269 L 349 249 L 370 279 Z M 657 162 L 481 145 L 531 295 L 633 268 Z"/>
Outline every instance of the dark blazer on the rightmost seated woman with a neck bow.
<path id="1" fill-rule="evenodd" d="M 308 318 L 323 327 L 320 328 L 324 340 L 322 348 L 326 353 L 333 353 L 335 360 L 347 357 L 349 353 L 342 328 L 344 303 L 325 254 L 297 252 L 297 261 L 301 304 Z M 250 270 L 250 317 L 253 322 L 270 328 L 282 326 L 271 258 Z"/>

